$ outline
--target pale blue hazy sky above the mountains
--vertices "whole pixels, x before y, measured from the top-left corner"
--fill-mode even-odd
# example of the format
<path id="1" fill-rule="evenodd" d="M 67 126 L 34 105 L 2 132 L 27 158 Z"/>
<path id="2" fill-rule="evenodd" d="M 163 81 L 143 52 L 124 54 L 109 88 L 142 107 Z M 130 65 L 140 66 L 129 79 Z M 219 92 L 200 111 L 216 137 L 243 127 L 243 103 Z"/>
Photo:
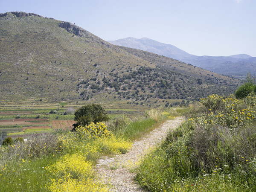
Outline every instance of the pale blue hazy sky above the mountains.
<path id="1" fill-rule="evenodd" d="M 110 41 L 151 38 L 194 55 L 256 57 L 256 0 L 0 0 L 0 13 L 69 21 Z"/>

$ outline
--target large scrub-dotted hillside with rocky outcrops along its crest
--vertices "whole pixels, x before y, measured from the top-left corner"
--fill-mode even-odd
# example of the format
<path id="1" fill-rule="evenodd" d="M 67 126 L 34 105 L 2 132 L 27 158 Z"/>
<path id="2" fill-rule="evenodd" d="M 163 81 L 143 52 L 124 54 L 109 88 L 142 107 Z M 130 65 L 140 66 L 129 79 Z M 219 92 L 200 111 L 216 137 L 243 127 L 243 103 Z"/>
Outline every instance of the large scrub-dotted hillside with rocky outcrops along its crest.
<path id="1" fill-rule="evenodd" d="M 1 101 L 44 98 L 131 105 L 228 95 L 241 84 L 172 58 L 115 46 L 73 23 L 0 14 Z M 167 105 L 168 104 L 168 105 Z M 158 104 L 157 104 L 158 105 Z"/>

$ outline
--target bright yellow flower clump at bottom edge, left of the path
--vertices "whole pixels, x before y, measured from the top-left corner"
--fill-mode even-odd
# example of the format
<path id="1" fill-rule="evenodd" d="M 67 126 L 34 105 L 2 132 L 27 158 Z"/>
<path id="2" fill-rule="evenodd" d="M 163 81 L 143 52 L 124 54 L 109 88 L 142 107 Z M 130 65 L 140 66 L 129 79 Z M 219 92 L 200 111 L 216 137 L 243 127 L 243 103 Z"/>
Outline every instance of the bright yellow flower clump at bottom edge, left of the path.
<path id="1" fill-rule="evenodd" d="M 50 175 L 50 184 L 46 186 L 52 192 L 105 192 L 108 189 L 100 181 L 94 181 L 92 163 L 81 154 L 67 154 L 45 168 Z"/>

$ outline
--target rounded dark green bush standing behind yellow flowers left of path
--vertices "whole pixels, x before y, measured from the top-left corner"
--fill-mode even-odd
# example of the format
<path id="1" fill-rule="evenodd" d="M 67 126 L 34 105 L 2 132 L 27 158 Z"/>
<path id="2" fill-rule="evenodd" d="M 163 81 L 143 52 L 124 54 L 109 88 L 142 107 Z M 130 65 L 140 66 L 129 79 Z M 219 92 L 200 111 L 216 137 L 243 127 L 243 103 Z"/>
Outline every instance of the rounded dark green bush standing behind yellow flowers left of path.
<path id="1" fill-rule="evenodd" d="M 75 113 L 75 121 L 80 126 L 89 125 L 90 122 L 108 121 L 110 118 L 105 109 L 98 104 L 88 104 L 79 108 Z"/>

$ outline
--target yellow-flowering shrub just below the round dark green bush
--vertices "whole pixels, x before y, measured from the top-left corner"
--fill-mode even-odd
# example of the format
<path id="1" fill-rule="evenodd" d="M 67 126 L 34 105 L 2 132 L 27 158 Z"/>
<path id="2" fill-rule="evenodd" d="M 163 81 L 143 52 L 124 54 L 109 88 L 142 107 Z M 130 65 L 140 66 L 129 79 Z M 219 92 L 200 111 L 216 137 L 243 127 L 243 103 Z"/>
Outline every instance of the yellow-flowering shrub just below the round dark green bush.
<path id="1" fill-rule="evenodd" d="M 116 137 L 104 123 L 90 123 L 84 127 L 78 127 L 73 137 L 69 136 L 59 137 L 62 145 L 68 151 L 80 151 L 86 155 L 87 158 L 99 156 L 99 153 L 104 154 L 118 154 L 127 153 L 131 148 L 132 143 L 122 137 Z M 93 158 L 94 159 L 94 158 Z"/>

